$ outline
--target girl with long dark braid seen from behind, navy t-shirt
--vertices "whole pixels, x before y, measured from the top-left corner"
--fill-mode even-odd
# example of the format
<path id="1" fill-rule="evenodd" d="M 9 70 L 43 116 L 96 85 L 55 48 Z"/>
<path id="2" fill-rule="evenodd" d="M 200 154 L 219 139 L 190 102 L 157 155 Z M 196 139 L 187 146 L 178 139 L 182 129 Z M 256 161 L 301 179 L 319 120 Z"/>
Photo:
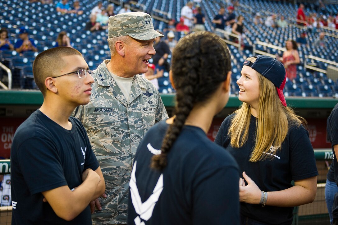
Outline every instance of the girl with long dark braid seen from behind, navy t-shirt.
<path id="1" fill-rule="evenodd" d="M 239 224 L 238 166 L 206 136 L 228 101 L 230 71 L 230 53 L 215 34 L 178 42 L 170 71 L 174 116 L 149 129 L 138 147 L 128 224 Z"/>

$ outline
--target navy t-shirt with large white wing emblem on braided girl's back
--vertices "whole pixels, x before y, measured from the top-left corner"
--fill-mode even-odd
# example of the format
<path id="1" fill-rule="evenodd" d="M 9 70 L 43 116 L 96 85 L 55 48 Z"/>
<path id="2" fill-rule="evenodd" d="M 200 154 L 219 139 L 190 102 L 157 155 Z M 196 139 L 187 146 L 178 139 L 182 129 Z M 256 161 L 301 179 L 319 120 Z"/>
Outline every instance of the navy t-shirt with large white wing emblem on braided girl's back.
<path id="1" fill-rule="evenodd" d="M 185 126 L 162 171 L 150 168 L 169 125 L 142 139 L 132 169 L 128 224 L 239 224 L 239 172 L 234 158 L 200 128 Z"/>

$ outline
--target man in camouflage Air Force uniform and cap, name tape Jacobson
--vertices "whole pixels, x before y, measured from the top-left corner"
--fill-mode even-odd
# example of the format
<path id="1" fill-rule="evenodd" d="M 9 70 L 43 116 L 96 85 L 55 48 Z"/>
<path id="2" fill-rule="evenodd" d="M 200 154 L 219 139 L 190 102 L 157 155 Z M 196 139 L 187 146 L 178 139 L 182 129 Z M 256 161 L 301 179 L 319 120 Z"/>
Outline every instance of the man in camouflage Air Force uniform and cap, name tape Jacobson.
<path id="1" fill-rule="evenodd" d="M 74 111 L 87 130 L 106 184 L 107 197 L 100 199 L 102 210 L 92 215 L 93 224 L 127 223 L 136 149 L 151 126 L 168 118 L 158 90 L 138 75 L 148 70 L 156 37 L 163 35 L 154 30 L 146 13 L 111 16 L 107 39 L 111 60 L 93 71 L 90 102 Z"/>

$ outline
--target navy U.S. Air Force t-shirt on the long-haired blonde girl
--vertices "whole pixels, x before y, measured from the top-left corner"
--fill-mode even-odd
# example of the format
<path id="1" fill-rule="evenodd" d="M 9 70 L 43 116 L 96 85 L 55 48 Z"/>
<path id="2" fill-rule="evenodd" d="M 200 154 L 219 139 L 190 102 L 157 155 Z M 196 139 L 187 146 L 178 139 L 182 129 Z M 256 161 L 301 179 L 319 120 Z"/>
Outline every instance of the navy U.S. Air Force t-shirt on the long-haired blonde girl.
<path id="1" fill-rule="evenodd" d="M 222 145 L 236 159 L 240 174 L 243 171 L 265 192 L 284 190 L 292 187 L 291 181 L 306 179 L 318 175 L 314 151 L 308 131 L 300 126 L 290 127 L 287 137 L 277 150 L 270 148 L 265 154 L 272 158 L 264 161 L 249 162 L 255 147 L 256 117 L 251 116 L 248 140 L 240 149 L 230 145 L 228 130 L 232 114 L 225 118 L 217 133 L 215 142 Z M 243 177 L 242 177 L 243 178 Z M 247 184 L 247 183 L 246 183 Z M 241 202 L 241 214 L 267 224 L 291 224 L 293 207 L 277 207 Z"/>

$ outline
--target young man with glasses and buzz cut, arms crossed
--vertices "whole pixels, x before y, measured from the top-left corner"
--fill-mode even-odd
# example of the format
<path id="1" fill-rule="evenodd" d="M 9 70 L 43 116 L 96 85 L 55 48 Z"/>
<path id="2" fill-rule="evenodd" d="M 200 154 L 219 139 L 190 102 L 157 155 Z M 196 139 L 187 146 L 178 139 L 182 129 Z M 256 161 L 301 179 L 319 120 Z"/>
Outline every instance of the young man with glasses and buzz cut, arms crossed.
<path id="1" fill-rule="evenodd" d="M 92 224 L 89 203 L 104 193 L 105 184 L 86 130 L 70 117 L 89 102 L 91 73 L 70 47 L 35 58 L 34 80 L 44 101 L 14 135 L 12 224 Z"/>

